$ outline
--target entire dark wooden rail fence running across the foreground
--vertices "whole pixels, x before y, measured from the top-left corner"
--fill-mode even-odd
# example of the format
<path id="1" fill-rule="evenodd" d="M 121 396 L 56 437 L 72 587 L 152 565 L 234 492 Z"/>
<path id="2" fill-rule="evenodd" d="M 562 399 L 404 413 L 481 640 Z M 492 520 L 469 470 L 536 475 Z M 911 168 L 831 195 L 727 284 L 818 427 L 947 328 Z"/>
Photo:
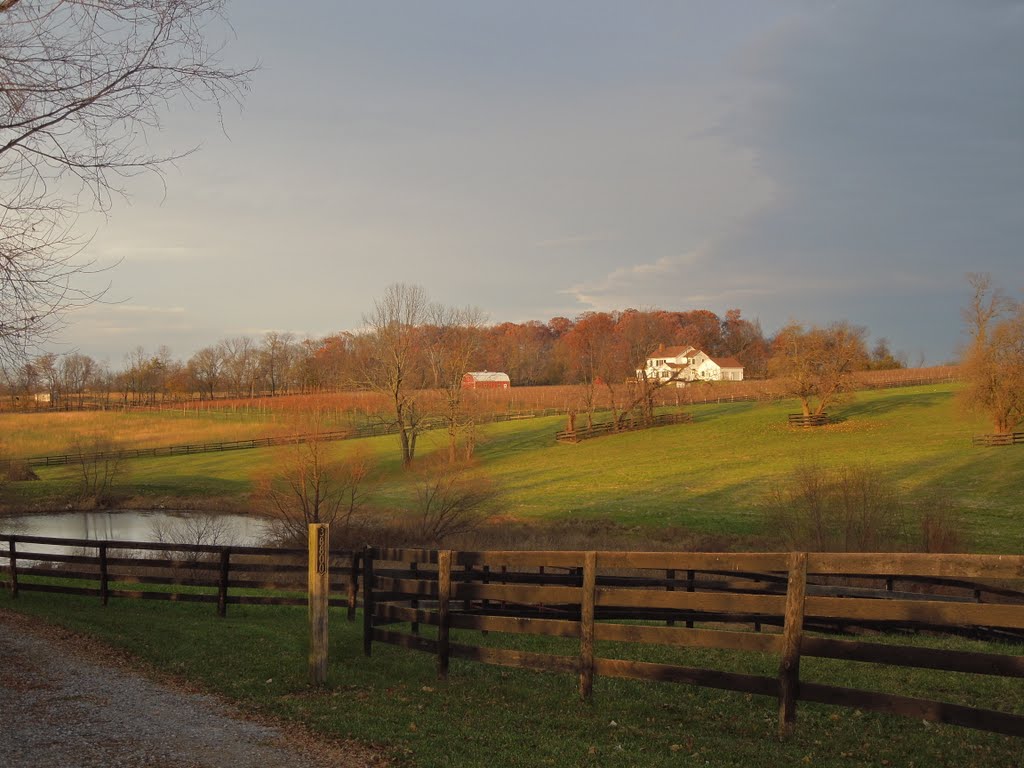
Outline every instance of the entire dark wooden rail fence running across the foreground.
<path id="1" fill-rule="evenodd" d="M 0 536 L 0 585 L 15 597 L 204 602 L 224 615 L 231 604 L 306 605 L 307 557 L 305 549 Z M 1024 736 L 1024 715 L 800 675 L 801 658 L 814 656 L 1024 678 L 1024 655 L 1013 652 L 1024 644 L 1024 556 L 368 547 L 332 553 L 330 572 L 331 606 L 352 621 L 362 605 L 368 655 L 381 642 L 426 651 L 442 677 L 455 657 L 577 675 L 585 698 L 602 676 L 772 696 L 782 734 L 797 702 L 814 701 Z M 473 644 L 465 631 L 495 637 Z M 562 638 L 561 652 L 502 647 L 502 633 Z M 1011 652 L 914 644 L 935 634 L 1005 641 Z M 614 657 L 630 644 L 636 651 L 620 655 L 642 659 L 651 646 L 769 654 L 777 674 Z"/>

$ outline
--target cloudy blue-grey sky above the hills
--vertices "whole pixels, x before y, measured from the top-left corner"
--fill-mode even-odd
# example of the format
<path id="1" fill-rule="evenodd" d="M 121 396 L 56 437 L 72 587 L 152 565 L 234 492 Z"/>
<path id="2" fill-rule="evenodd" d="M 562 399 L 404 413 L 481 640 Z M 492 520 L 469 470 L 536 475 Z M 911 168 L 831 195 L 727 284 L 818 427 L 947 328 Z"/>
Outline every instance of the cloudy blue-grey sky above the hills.
<path id="1" fill-rule="evenodd" d="M 493 323 L 738 307 L 954 357 L 965 274 L 1024 291 L 1024 2 L 228 5 L 242 109 L 83 217 L 112 365 L 354 330 L 392 283 Z M 55 345 L 51 345 L 55 346 Z"/>

